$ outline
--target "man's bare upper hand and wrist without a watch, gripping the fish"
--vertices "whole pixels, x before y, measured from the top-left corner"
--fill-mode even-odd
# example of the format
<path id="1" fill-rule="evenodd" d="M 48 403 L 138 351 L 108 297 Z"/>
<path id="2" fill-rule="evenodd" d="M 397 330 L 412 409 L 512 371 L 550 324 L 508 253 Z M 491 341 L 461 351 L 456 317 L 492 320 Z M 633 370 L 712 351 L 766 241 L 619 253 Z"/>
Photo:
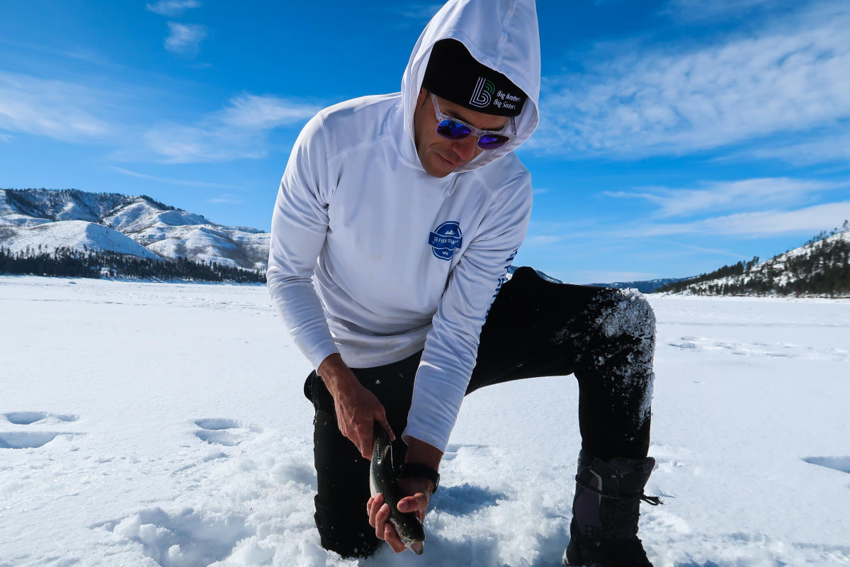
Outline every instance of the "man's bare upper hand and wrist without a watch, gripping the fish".
<path id="1" fill-rule="evenodd" d="M 354 443 L 363 458 L 371 459 L 376 421 L 387 430 L 390 439 L 395 439 L 383 405 L 375 394 L 360 384 L 342 356 L 331 354 L 322 360 L 317 370 L 333 396 L 339 431 Z"/>

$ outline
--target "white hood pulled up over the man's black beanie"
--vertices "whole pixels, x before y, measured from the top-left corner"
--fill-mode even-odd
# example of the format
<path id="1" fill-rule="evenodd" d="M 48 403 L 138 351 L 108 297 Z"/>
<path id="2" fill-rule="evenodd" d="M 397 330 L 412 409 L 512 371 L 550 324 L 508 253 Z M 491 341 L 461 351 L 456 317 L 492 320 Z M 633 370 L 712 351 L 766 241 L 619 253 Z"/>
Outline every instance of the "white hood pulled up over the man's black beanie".
<path id="1" fill-rule="evenodd" d="M 540 32 L 534 0 L 449 0 L 434 14 L 416 41 L 401 79 L 405 129 L 413 138 L 413 111 L 428 66 L 433 44 L 456 39 L 483 65 L 513 81 L 528 95 L 523 111 L 515 118 L 517 139 L 504 148 L 484 151 L 455 173 L 470 171 L 494 162 L 519 148 L 537 128 L 540 118 Z"/>

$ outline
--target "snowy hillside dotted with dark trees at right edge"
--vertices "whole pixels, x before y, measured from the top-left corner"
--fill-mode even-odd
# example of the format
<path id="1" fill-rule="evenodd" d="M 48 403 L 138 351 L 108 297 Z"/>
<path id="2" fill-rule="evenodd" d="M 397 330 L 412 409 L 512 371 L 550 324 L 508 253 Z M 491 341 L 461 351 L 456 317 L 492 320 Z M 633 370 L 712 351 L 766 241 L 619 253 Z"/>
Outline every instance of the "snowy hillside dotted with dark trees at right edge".
<path id="1" fill-rule="evenodd" d="M 662 287 L 697 295 L 850 296 L 850 223 L 766 262 L 759 258 Z"/>

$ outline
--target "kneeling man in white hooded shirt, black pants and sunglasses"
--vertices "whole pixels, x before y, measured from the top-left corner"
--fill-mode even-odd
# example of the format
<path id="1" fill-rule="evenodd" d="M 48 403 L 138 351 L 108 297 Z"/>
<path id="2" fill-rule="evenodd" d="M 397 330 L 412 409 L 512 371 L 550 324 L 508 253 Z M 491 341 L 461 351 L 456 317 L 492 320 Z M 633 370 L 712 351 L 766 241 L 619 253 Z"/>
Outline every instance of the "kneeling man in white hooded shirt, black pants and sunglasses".
<path id="1" fill-rule="evenodd" d="M 292 150 L 267 278 L 316 368 L 304 385 L 315 520 L 343 557 L 382 540 L 405 549 L 388 504 L 369 494 L 375 421 L 404 463 L 399 510 L 424 519 L 465 394 L 575 373 L 582 453 L 564 564 L 649 565 L 636 534 L 654 463 L 652 311 L 531 269 L 507 281 L 531 207 L 513 150 L 536 128 L 539 90 L 534 1 L 450 0 L 419 37 L 401 93 L 321 111 Z"/>

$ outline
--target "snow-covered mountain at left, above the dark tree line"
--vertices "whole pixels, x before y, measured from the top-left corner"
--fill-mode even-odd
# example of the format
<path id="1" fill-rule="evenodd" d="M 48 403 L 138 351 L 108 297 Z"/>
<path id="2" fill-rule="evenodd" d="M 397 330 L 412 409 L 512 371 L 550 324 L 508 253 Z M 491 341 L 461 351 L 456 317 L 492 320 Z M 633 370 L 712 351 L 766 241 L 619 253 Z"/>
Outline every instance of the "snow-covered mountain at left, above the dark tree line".
<path id="1" fill-rule="evenodd" d="M 0 247 L 9 252 L 116 252 L 146 259 L 265 270 L 269 234 L 216 224 L 149 196 L 0 190 Z"/>

